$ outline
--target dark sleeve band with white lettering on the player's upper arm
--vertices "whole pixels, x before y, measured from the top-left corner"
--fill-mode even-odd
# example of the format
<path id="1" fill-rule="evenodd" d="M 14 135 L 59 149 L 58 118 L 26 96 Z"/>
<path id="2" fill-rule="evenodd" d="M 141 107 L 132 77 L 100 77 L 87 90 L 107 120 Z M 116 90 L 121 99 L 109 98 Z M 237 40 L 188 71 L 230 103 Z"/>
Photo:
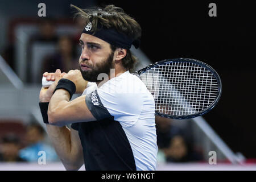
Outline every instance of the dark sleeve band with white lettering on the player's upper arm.
<path id="1" fill-rule="evenodd" d="M 97 120 L 112 117 L 106 107 L 104 107 L 102 104 L 97 90 L 87 94 L 85 97 L 85 102 L 93 117 Z"/>

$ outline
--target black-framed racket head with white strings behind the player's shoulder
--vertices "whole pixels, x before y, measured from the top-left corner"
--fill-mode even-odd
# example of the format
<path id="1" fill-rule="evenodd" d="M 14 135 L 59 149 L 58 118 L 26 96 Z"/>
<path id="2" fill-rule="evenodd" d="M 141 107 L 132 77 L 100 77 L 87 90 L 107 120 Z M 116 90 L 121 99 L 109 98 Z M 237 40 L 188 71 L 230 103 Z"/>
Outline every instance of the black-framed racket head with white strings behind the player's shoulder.
<path id="1" fill-rule="evenodd" d="M 207 76 L 204 76 L 206 73 Z M 194 118 L 208 113 L 220 100 L 222 92 L 220 76 L 212 67 L 199 60 L 190 58 L 163 60 L 148 65 L 134 74 L 141 78 L 151 92 L 155 99 L 155 114 L 161 117 Z M 197 95 L 199 92 L 200 96 Z M 203 100 L 201 97 L 204 97 Z"/>

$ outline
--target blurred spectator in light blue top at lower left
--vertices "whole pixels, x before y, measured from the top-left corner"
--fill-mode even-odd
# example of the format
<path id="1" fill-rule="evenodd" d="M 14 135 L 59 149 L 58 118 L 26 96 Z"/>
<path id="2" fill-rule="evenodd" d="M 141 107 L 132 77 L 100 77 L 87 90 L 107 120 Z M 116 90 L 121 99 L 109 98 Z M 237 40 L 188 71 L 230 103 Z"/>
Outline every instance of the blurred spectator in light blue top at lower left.
<path id="1" fill-rule="evenodd" d="M 38 152 L 46 152 L 46 160 L 48 162 L 54 162 L 58 160 L 57 154 L 51 146 L 44 143 L 45 131 L 38 123 L 30 123 L 27 126 L 26 140 L 27 147 L 23 148 L 19 152 L 20 158 L 27 160 L 28 162 L 38 162 Z"/>

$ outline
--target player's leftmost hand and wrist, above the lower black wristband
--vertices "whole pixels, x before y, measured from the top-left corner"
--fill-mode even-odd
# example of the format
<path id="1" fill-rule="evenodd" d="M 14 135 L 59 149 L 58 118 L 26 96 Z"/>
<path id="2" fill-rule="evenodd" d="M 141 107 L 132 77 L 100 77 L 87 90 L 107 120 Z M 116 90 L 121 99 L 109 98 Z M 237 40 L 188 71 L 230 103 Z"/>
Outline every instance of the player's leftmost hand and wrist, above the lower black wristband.
<path id="1" fill-rule="evenodd" d="M 39 100 L 40 102 L 49 102 L 51 100 L 51 97 L 53 95 L 53 92 L 57 86 L 57 83 L 59 82 L 60 78 L 63 77 L 65 72 L 61 73 L 60 69 L 56 69 L 55 73 L 44 73 L 43 76 L 46 77 L 47 81 L 55 81 L 49 88 L 43 88 L 40 90 L 39 94 Z"/>

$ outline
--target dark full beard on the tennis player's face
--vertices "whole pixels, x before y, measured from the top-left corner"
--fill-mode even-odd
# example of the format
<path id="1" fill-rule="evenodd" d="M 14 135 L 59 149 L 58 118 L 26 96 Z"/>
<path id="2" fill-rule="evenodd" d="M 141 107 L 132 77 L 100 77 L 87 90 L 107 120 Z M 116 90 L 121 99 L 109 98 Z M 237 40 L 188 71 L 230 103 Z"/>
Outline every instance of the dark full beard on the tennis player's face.
<path id="1" fill-rule="evenodd" d="M 100 61 L 100 63 L 96 63 L 95 66 L 87 64 L 91 68 L 88 71 L 83 71 L 81 69 L 81 65 L 79 65 L 79 69 L 84 80 L 90 82 L 97 82 L 100 81 L 98 80 L 98 75 L 100 75 L 101 73 L 106 73 L 107 75 L 109 75 L 110 69 L 114 68 L 113 57 L 114 52 L 112 51 L 107 59 Z"/>

